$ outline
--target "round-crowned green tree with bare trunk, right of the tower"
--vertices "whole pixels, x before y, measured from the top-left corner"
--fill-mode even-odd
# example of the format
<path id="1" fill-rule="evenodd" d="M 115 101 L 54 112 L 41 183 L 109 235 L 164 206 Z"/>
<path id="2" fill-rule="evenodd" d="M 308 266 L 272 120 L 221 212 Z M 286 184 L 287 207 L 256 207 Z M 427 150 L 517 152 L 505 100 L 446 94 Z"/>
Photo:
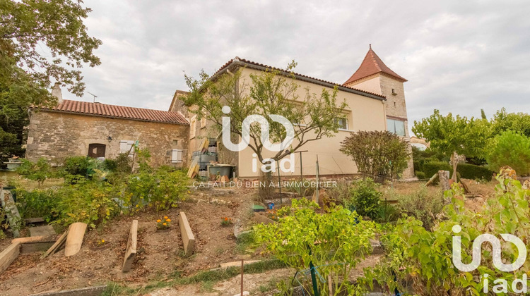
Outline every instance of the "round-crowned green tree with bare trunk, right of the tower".
<path id="1" fill-rule="evenodd" d="M 412 131 L 430 142 L 430 149 L 451 157 L 453 180 L 457 180 L 458 154 L 485 158 L 485 142 L 491 136 L 488 121 L 452 113 L 442 116 L 439 110 L 422 121 L 414 121 Z"/>

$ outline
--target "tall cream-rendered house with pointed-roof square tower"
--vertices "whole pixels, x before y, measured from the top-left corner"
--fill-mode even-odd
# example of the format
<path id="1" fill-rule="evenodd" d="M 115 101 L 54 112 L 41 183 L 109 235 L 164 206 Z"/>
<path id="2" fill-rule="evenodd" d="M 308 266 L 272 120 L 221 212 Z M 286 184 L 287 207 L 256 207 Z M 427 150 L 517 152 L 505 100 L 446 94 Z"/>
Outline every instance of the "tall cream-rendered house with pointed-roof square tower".
<path id="1" fill-rule="evenodd" d="M 251 81 L 249 75 L 257 74 L 267 68 L 273 67 L 236 57 L 225 63 L 214 75 L 220 75 L 227 71 L 234 73 L 233 71 L 241 69 L 240 83 L 243 83 L 244 81 Z M 283 72 L 283 74 L 287 75 L 288 73 Z M 341 141 L 350 132 L 358 130 L 389 130 L 410 142 L 404 94 L 404 82 L 407 80 L 388 68 L 381 58 L 375 54 L 371 46 L 358 70 L 343 84 L 336 84 L 298 73 L 294 73 L 294 75 L 295 80 L 300 84 L 300 97 L 303 97 L 302 92 L 305 92 L 306 89 L 310 90 L 311 93 L 320 93 L 323 88 L 332 90 L 337 86 L 338 101 L 344 99 L 348 104 L 348 107 L 342 111 L 343 117 L 338 118 L 342 126 L 334 137 L 324 137 L 321 140 L 309 142 L 302 146 L 302 150 L 307 150 L 307 152 L 303 153 L 301 159 L 303 175 L 310 176 L 315 174 L 317 156 L 320 175 L 357 174 L 355 163 L 339 151 Z M 185 92 L 182 91 L 175 92 L 170 111 L 180 111 L 188 114 L 187 119 L 190 123 L 188 158 L 192 157 L 193 152 L 199 150 L 201 139 L 206 137 L 216 139 L 219 161 L 237 166 L 237 175 L 241 178 L 256 178 L 259 173 L 251 169 L 252 149 L 247 148 L 241 152 L 233 153 L 225 151 L 220 142 L 219 128 L 215 128 L 212 126 L 213 123 L 209 123 L 204 119 L 199 120 L 194 113 L 188 113 L 187 107 L 179 99 L 179 96 L 184 94 Z M 295 153 L 294 173 L 287 174 L 285 177 L 299 175 L 300 154 Z M 413 161 L 411 159 L 403 177 L 411 178 L 413 175 Z"/>

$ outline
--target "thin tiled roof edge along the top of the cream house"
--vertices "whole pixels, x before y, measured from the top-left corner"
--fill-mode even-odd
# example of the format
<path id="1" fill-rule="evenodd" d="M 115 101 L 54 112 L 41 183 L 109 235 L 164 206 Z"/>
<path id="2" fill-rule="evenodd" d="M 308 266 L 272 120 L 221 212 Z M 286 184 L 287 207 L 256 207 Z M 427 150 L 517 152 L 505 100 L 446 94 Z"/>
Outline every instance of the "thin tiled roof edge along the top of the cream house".
<path id="1" fill-rule="evenodd" d="M 237 63 L 237 64 L 239 64 L 239 66 L 248 66 L 249 68 L 256 68 L 257 70 L 271 69 L 271 70 L 279 70 L 281 72 L 286 72 L 285 70 L 283 70 L 281 68 L 267 66 L 267 65 L 264 65 L 262 63 L 249 61 L 249 60 L 246 60 L 245 58 L 240 58 L 240 57 L 236 56 L 235 58 L 232 58 L 230 61 L 226 62 L 223 66 L 221 66 L 221 68 L 219 68 L 219 70 L 217 70 L 217 72 L 215 74 L 213 74 L 212 77 L 218 75 L 225 68 L 228 68 L 228 66 L 232 65 L 232 63 Z M 365 97 L 372 97 L 372 98 L 375 98 L 375 99 L 385 99 L 386 98 L 382 94 L 376 94 L 374 92 L 367 92 L 365 90 L 359 90 L 359 89 L 356 89 L 356 88 L 353 88 L 353 87 L 347 87 L 346 85 L 341 85 L 340 83 L 329 82 L 329 81 L 322 80 L 322 79 L 319 79 L 319 78 L 312 78 L 310 76 L 299 74 L 299 73 L 293 73 L 293 74 L 295 75 L 296 79 L 305 80 L 307 82 L 312 82 L 312 83 L 315 83 L 315 84 L 318 84 L 318 85 L 323 85 L 323 86 L 326 86 L 326 87 L 334 87 L 336 85 L 336 86 L 338 86 L 339 90 L 343 90 L 343 91 L 346 91 L 346 92 L 353 92 L 353 93 L 356 93 L 356 94 L 363 95 Z"/>

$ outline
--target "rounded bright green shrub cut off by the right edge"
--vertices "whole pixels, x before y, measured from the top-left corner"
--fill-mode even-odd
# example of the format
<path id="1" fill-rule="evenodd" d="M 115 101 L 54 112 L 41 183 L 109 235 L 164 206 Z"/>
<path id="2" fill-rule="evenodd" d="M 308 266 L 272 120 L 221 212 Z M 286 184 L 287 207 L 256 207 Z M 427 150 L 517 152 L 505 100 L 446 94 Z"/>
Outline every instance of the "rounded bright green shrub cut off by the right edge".
<path id="1" fill-rule="evenodd" d="M 510 166 L 519 175 L 530 173 L 530 138 L 512 130 L 497 135 L 486 156 L 490 168 L 499 171 L 502 166 Z"/>

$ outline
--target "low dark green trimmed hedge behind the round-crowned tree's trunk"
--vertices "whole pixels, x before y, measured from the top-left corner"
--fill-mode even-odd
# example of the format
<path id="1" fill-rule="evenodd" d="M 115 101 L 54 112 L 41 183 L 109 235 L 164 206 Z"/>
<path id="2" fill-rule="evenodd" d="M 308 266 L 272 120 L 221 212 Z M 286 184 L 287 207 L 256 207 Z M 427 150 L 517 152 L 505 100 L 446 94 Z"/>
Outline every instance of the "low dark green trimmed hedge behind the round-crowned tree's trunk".
<path id="1" fill-rule="evenodd" d="M 423 173 L 425 173 L 425 178 L 430 178 L 438 171 L 449 171 L 449 174 L 452 174 L 453 168 L 450 164 L 443 161 L 430 161 L 423 164 Z M 459 164 L 457 167 L 457 172 L 460 175 L 460 178 L 465 179 L 485 179 L 490 180 L 493 171 L 490 171 L 484 166 L 476 166 L 474 164 Z"/>

